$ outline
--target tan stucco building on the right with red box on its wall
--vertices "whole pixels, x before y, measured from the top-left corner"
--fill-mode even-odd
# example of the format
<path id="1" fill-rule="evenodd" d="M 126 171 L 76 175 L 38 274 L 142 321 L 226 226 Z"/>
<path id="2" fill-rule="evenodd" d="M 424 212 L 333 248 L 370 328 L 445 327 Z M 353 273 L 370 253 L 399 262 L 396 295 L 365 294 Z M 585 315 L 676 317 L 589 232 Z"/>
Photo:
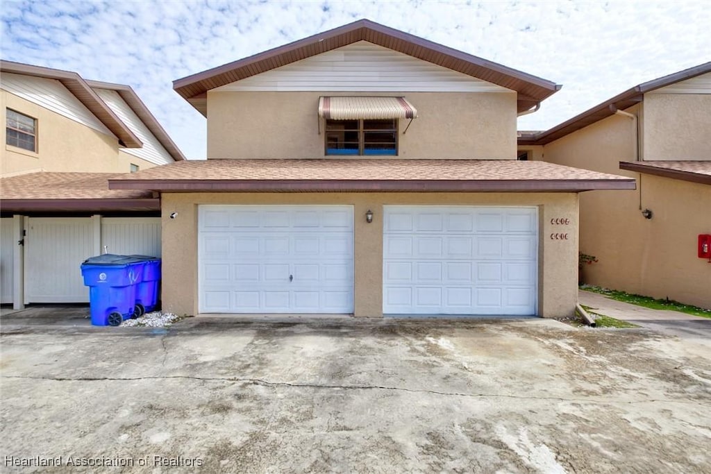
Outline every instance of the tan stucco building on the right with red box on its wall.
<path id="1" fill-rule="evenodd" d="M 616 112 L 617 111 L 617 112 Z M 580 198 L 584 281 L 711 308 L 711 63 L 645 82 L 567 122 L 520 136 L 542 159 L 637 178 Z"/>

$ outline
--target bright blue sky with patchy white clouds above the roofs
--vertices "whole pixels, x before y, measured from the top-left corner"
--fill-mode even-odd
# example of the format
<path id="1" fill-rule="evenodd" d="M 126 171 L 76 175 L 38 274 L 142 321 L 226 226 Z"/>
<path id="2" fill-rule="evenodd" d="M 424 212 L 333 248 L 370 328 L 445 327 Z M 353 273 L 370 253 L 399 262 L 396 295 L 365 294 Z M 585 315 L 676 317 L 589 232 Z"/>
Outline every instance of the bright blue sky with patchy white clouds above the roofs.
<path id="1" fill-rule="evenodd" d="M 703 1 L 2 0 L 0 14 L 3 59 L 131 85 L 190 158 L 205 119 L 173 80 L 360 18 L 562 84 L 526 130 L 711 60 Z"/>

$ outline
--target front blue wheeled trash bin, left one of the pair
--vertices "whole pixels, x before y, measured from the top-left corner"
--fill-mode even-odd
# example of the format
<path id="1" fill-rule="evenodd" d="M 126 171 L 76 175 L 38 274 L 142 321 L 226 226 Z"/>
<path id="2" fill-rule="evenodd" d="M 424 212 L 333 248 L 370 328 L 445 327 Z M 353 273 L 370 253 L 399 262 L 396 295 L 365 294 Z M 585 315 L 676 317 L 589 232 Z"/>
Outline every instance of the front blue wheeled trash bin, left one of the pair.
<path id="1" fill-rule="evenodd" d="M 134 316 L 136 288 L 144 266 L 140 259 L 114 254 L 90 257 L 82 263 L 92 325 L 117 326 Z"/>

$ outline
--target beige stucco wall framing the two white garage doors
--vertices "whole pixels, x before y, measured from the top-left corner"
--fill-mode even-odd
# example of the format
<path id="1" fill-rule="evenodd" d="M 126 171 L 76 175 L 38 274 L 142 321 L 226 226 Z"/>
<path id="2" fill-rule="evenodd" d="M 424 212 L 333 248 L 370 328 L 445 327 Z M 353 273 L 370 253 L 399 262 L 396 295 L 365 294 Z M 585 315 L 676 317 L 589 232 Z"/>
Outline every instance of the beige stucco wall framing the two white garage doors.
<path id="1" fill-rule="evenodd" d="M 198 205 L 346 204 L 354 206 L 355 316 L 383 315 L 383 205 L 536 205 L 539 207 L 538 315 L 567 316 L 577 303 L 577 195 L 574 193 L 164 193 L 162 301 L 166 311 L 198 313 Z M 365 211 L 373 210 L 372 224 Z M 171 219 L 171 212 L 178 212 Z M 555 218 L 570 225 L 552 225 Z M 566 232 L 568 240 L 550 239 Z"/>

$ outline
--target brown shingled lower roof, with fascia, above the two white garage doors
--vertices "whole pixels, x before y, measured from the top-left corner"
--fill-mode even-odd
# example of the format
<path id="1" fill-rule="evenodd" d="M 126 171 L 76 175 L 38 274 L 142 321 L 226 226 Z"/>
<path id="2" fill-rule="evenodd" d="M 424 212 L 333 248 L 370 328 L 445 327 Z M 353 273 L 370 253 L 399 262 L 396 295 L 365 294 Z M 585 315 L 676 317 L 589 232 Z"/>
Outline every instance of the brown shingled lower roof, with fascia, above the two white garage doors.
<path id="1" fill-rule="evenodd" d="M 543 161 L 255 158 L 171 163 L 111 178 L 109 188 L 213 192 L 578 192 L 634 189 L 635 181 Z"/>

